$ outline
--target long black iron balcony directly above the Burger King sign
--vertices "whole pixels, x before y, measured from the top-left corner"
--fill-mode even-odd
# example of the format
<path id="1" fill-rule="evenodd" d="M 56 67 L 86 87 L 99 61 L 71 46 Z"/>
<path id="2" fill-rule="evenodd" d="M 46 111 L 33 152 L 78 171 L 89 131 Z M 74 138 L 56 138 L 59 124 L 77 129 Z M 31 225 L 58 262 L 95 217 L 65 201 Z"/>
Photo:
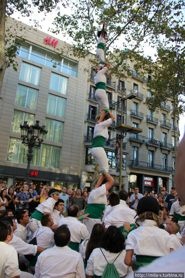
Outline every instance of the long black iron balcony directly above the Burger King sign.
<path id="1" fill-rule="evenodd" d="M 130 160 L 129 167 L 137 167 L 142 169 L 151 169 L 154 171 L 173 173 L 172 167 L 153 164 L 152 162 L 144 162 L 139 160 Z"/>

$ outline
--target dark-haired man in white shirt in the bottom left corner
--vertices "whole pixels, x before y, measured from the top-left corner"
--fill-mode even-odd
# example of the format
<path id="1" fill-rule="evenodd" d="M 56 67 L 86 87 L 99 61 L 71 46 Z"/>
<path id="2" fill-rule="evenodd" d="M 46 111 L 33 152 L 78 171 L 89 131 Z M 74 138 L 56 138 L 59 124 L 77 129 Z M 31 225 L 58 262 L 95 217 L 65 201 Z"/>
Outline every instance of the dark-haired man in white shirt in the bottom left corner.
<path id="1" fill-rule="evenodd" d="M 13 228 L 10 224 L 0 222 L 0 277 L 33 277 L 32 274 L 19 270 L 18 256 L 14 247 L 8 243 L 13 238 Z"/>

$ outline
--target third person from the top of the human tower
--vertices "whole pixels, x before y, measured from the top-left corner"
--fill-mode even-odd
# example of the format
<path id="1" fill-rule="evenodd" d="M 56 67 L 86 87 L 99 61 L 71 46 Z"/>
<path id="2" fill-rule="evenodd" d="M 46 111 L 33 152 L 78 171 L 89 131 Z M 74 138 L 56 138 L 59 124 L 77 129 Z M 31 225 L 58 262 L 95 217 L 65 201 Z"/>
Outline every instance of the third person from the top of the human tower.
<path id="1" fill-rule="evenodd" d="M 99 120 L 100 116 L 96 116 L 96 119 Z M 100 168 L 103 168 L 106 172 L 108 172 L 109 165 L 104 146 L 105 141 L 107 141 L 109 138 L 108 127 L 111 125 L 114 119 L 114 115 L 109 110 L 108 114 L 106 114 L 103 118 L 103 121 L 100 123 L 96 123 L 94 129 L 93 142 L 91 146 L 91 155 L 95 158 Z M 100 174 L 99 184 L 102 184 L 104 178 L 105 177 L 102 174 Z"/>

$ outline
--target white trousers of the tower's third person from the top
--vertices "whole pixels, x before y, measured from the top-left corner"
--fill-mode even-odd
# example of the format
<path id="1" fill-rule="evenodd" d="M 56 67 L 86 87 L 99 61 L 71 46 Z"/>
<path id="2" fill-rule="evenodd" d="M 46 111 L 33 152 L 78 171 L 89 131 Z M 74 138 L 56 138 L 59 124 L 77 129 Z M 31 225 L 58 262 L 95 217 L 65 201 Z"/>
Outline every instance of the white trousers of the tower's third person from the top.
<path id="1" fill-rule="evenodd" d="M 104 148 L 102 147 L 92 148 L 90 152 L 91 155 L 96 160 L 96 162 L 99 164 L 99 167 L 105 169 L 105 171 L 108 172 L 109 165 L 108 165 L 108 159 Z"/>

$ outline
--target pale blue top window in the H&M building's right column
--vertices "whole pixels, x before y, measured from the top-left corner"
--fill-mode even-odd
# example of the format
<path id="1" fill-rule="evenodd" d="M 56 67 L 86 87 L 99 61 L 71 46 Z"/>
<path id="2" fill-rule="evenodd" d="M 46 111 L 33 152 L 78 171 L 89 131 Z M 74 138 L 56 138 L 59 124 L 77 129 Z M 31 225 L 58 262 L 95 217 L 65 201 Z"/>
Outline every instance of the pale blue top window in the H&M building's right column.
<path id="1" fill-rule="evenodd" d="M 56 73 L 51 73 L 51 79 L 49 84 L 49 89 L 61 94 L 67 94 L 67 83 L 68 78 L 58 75 Z"/>

